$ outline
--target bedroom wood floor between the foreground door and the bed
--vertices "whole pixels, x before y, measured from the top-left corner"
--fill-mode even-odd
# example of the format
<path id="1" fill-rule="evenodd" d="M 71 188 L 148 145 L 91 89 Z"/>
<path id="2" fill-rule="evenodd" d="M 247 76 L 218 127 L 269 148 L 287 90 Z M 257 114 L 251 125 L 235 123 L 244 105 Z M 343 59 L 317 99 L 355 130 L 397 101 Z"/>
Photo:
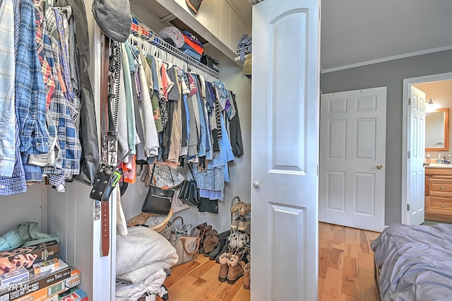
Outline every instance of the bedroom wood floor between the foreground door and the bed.
<path id="1" fill-rule="evenodd" d="M 319 300 L 378 300 L 370 244 L 379 234 L 319 223 Z"/>

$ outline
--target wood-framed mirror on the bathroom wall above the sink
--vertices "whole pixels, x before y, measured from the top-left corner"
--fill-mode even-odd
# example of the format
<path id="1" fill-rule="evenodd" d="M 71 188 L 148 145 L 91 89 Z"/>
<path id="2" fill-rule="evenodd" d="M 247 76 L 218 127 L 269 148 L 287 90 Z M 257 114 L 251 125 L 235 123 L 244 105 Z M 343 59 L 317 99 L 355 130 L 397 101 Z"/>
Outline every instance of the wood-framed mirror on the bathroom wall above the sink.
<path id="1" fill-rule="evenodd" d="M 425 113 L 425 151 L 449 150 L 449 109 Z"/>

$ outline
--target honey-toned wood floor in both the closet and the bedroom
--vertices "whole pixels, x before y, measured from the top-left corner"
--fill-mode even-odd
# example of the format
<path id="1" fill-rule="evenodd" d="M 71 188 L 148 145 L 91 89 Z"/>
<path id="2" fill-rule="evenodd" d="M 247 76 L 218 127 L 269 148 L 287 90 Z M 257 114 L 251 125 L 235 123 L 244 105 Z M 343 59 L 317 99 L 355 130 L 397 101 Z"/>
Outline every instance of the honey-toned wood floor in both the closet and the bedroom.
<path id="1" fill-rule="evenodd" d="M 319 300 L 376 301 L 374 254 L 378 232 L 319 223 Z M 242 278 L 234 285 L 218 281 L 220 264 L 200 255 L 172 268 L 165 286 L 169 301 L 249 300 Z M 157 297 L 157 300 L 161 300 Z"/>

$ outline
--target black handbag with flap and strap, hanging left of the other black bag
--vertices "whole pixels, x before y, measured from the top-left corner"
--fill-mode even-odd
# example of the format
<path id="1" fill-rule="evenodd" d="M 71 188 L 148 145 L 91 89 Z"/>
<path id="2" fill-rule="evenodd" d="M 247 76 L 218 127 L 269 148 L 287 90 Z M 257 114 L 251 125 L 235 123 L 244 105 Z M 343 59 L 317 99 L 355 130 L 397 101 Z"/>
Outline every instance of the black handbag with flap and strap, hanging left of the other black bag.
<path id="1" fill-rule="evenodd" d="M 154 177 L 155 164 L 156 163 L 154 163 L 152 175 L 150 175 L 151 181 Z M 169 172 L 171 172 L 171 170 L 169 170 Z M 143 206 L 141 206 L 141 211 L 167 216 L 171 209 L 173 197 L 174 189 L 161 189 L 151 184 L 144 199 Z"/>

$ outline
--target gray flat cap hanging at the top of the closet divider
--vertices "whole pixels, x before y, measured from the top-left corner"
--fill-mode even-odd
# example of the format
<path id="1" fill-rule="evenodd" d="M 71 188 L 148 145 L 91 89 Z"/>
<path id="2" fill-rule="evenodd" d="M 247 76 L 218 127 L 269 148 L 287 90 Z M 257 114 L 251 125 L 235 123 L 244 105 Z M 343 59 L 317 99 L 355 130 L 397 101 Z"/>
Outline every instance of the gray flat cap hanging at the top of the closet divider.
<path id="1" fill-rule="evenodd" d="M 129 0 L 94 0 L 91 11 L 105 35 L 126 42 L 132 25 Z"/>

